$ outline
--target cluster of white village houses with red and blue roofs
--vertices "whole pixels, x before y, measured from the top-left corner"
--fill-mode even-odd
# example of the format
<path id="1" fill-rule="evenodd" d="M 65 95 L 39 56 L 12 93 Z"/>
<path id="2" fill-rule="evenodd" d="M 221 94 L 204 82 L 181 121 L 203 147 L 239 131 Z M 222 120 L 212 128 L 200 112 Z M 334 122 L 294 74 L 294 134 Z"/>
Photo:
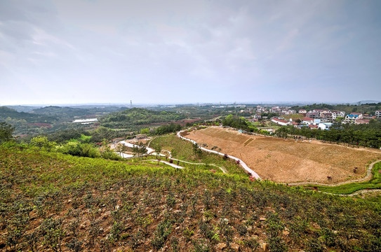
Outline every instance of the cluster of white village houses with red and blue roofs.
<path id="1" fill-rule="evenodd" d="M 270 111 L 283 115 L 296 113 L 294 110 L 279 109 L 279 107 L 273 107 Z M 278 125 L 293 125 L 298 128 L 309 127 L 313 129 L 320 128 L 321 130 L 329 130 L 338 117 L 343 118 L 342 123 L 354 124 L 366 124 L 369 123 L 371 119 L 381 118 L 381 111 L 375 111 L 375 116 L 362 113 L 350 113 L 345 115 L 344 111 L 330 111 L 326 109 L 314 109 L 308 112 L 305 109 L 300 109 L 298 113 L 305 116 L 301 123 L 293 122 L 292 119 L 288 121 L 283 120 L 282 118 L 272 118 L 272 122 Z"/>

